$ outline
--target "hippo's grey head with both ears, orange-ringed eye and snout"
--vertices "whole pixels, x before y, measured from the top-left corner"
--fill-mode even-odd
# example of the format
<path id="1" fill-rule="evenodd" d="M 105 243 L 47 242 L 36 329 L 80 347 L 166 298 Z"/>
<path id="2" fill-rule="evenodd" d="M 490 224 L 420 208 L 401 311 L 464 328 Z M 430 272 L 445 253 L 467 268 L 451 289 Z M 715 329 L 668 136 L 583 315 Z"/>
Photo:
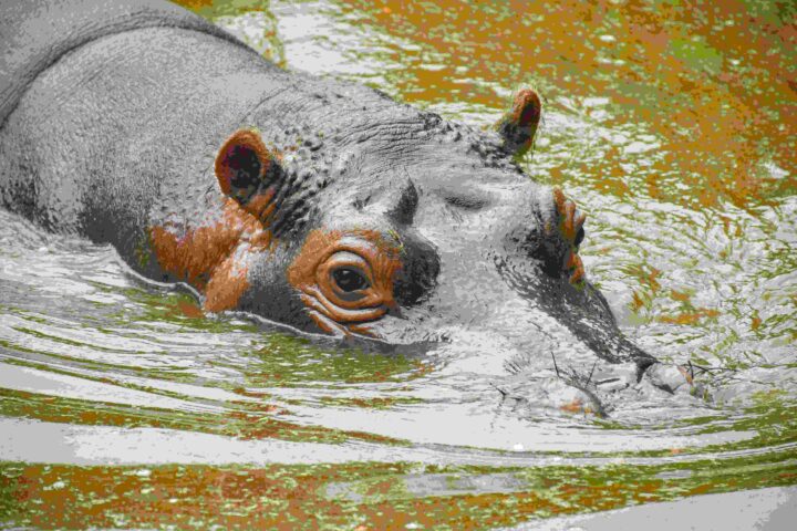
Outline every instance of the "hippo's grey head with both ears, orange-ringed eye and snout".
<path id="1" fill-rule="evenodd" d="M 558 343 L 653 363 L 587 280 L 586 216 L 514 162 L 539 122 L 534 91 L 519 93 L 497 133 L 372 106 L 327 127 L 245 127 L 224 143 L 216 194 L 235 238 L 216 246 L 228 258 L 206 284 L 206 310 L 384 344 L 482 334 L 483 346 L 546 363 Z"/>

